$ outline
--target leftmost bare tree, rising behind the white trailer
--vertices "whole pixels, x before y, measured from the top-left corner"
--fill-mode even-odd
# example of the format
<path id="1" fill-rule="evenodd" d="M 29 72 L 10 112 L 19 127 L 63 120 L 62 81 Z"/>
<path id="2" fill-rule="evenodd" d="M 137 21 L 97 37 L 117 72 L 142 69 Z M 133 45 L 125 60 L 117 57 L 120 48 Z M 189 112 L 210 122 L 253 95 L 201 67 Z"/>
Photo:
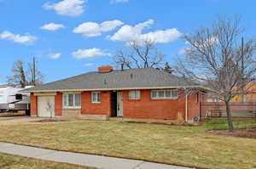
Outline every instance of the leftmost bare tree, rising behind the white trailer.
<path id="1" fill-rule="evenodd" d="M 26 70 L 24 68 L 24 62 L 22 60 L 17 60 L 12 67 L 12 76 L 7 77 L 7 82 L 11 86 L 26 87 Z"/>

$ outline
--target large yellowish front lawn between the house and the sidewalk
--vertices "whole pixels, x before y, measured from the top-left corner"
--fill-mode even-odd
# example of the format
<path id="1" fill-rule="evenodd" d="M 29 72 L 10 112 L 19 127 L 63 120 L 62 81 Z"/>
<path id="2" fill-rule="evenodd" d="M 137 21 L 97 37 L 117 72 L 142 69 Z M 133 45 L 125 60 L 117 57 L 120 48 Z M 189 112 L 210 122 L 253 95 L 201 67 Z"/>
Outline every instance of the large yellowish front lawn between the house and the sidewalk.
<path id="1" fill-rule="evenodd" d="M 250 127 L 256 127 L 252 123 Z M 177 127 L 116 121 L 34 122 L 0 126 L 0 141 L 200 168 L 256 167 L 256 139 L 205 132 L 212 127 L 210 123 Z"/>

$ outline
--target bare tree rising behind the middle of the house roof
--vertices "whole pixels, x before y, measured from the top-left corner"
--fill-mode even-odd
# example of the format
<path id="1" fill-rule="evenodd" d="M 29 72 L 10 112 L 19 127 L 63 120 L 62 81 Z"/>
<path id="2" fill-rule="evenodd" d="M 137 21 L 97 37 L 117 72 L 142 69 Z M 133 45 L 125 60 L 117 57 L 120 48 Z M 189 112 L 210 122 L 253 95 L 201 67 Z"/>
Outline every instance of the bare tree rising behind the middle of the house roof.
<path id="1" fill-rule="evenodd" d="M 165 55 L 161 54 L 153 41 L 130 42 L 128 47 L 120 49 L 114 57 L 114 63 L 125 68 L 161 67 Z"/>

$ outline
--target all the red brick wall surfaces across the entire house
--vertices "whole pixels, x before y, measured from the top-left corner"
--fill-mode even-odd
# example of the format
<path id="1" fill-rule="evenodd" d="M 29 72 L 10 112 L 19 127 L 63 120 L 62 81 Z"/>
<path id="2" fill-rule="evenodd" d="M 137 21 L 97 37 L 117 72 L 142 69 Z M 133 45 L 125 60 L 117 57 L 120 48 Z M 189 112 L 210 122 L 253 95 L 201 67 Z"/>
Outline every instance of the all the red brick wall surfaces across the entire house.
<path id="1" fill-rule="evenodd" d="M 141 90 L 140 100 L 128 99 L 129 91 L 123 93 L 123 110 L 125 118 L 143 118 L 158 120 L 177 120 L 177 113 L 180 112 L 185 118 L 185 97 L 179 93 L 178 99 L 151 99 L 150 90 Z M 188 120 L 193 120 L 195 115 L 200 115 L 200 102 L 195 95 L 188 98 Z M 82 114 L 84 115 L 109 115 L 111 109 L 111 91 L 101 92 L 101 103 L 91 103 L 91 92 L 83 92 L 81 95 Z M 32 115 L 38 115 L 37 96 L 31 94 Z M 55 115 L 62 115 L 62 93 L 55 95 Z"/>

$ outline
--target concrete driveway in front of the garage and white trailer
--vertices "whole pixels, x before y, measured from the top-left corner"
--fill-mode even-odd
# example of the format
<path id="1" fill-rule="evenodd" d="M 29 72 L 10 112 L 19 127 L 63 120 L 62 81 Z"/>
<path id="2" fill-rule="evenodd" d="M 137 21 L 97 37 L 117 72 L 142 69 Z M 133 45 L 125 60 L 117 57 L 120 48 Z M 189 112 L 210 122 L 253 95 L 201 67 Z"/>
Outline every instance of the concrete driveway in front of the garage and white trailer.
<path id="1" fill-rule="evenodd" d="M 40 117 L 31 117 L 31 116 L 8 116 L 8 117 L 0 117 L 0 125 L 1 124 L 9 124 L 9 123 L 18 123 L 18 122 L 32 122 L 32 121 L 41 121 L 44 118 Z"/>

